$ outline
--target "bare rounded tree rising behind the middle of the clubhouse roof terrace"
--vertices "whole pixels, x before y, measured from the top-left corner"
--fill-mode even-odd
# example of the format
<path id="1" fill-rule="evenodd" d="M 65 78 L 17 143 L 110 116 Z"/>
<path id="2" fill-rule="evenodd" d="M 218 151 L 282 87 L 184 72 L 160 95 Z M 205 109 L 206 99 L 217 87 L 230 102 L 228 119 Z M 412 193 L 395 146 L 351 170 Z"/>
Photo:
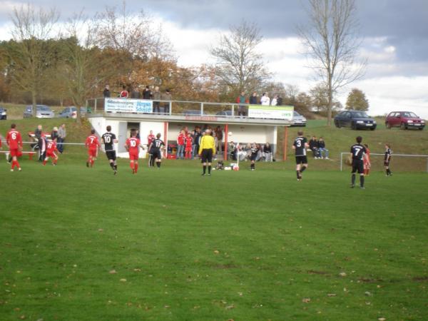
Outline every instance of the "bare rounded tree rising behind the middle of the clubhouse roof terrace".
<path id="1" fill-rule="evenodd" d="M 263 36 L 255 24 L 243 21 L 230 26 L 229 34 L 220 35 L 218 46 L 210 49 L 217 58 L 217 74 L 233 93 L 254 91 L 263 85 L 270 73 L 257 52 Z"/>

